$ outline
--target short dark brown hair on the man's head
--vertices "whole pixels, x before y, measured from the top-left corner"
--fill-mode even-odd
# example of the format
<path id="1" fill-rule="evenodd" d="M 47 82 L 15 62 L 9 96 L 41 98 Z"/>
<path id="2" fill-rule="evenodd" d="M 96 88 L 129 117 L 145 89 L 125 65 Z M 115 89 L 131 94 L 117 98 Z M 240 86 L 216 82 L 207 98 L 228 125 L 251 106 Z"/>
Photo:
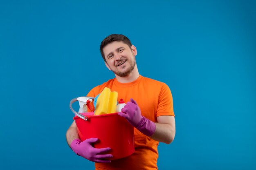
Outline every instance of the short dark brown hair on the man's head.
<path id="1" fill-rule="evenodd" d="M 132 43 L 130 42 L 129 38 L 127 38 L 125 35 L 122 35 L 122 34 L 111 34 L 111 35 L 108 35 L 108 37 L 106 37 L 102 42 L 101 42 L 101 46 L 100 46 L 100 51 L 101 51 L 101 56 L 103 58 L 103 60 L 106 62 L 106 58 L 104 56 L 104 53 L 103 53 L 103 48 L 110 44 L 111 42 L 114 42 L 114 41 L 121 41 L 121 42 L 124 42 L 124 44 L 127 44 L 130 48 L 132 46 Z"/>

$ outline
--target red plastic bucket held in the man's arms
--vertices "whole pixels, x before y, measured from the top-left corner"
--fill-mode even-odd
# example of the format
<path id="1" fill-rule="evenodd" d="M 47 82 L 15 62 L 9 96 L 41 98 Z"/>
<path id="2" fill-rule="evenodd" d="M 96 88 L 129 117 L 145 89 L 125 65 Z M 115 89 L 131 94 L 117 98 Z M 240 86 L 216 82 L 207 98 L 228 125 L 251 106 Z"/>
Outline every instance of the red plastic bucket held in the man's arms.
<path id="1" fill-rule="evenodd" d="M 87 120 L 78 116 L 73 118 L 82 141 L 92 137 L 98 138 L 99 142 L 94 144 L 94 148 L 111 148 L 111 160 L 127 157 L 134 152 L 134 129 L 124 117 L 117 113 L 80 114 L 88 117 Z"/>

